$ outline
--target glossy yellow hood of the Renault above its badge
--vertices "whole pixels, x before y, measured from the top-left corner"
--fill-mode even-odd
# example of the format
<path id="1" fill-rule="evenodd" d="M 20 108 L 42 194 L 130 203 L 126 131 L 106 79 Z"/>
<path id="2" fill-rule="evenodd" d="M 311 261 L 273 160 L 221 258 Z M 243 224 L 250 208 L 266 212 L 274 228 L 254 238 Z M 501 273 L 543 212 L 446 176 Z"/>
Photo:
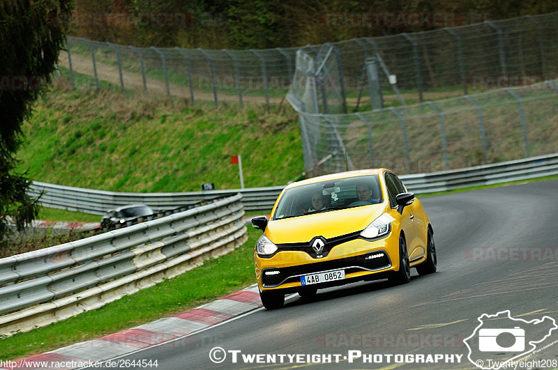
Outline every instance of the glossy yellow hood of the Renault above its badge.
<path id="1" fill-rule="evenodd" d="M 386 210 L 386 204 L 372 204 L 324 213 L 272 220 L 266 236 L 276 244 L 309 242 L 315 236 L 326 239 L 361 231 Z"/>

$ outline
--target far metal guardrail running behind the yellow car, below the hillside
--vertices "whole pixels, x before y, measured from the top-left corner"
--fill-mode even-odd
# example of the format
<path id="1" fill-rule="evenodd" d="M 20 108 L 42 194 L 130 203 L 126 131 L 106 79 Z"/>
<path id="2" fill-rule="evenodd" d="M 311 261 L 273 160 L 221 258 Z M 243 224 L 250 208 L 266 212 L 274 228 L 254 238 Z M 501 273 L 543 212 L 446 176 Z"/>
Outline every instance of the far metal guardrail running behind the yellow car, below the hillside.
<path id="1" fill-rule="evenodd" d="M 409 191 L 427 194 L 555 174 L 558 174 L 558 153 L 431 174 L 402 175 L 400 178 Z M 243 195 L 245 210 L 269 212 L 284 187 L 183 193 L 121 193 L 35 182 L 31 186 L 30 194 L 38 195 L 44 190 L 45 194 L 40 199 L 43 206 L 101 215 L 106 210 L 129 203 L 145 203 L 152 208 L 172 209 L 179 204 L 188 205 L 239 192 Z"/>

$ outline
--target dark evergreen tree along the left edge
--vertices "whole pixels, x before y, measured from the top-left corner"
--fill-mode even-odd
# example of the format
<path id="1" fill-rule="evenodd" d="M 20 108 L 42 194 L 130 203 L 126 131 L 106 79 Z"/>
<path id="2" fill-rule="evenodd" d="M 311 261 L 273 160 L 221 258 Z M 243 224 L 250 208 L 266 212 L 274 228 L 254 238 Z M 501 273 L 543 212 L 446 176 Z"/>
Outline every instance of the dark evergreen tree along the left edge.
<path id="1" fill-rule="evenodd" d="M 17 174 L 15 154 L 23 141 L 22 123 L 45 91 L 68 31 L 63 19 L 70 0 L 3 0 L 0 3 L 0 241 L 7 216 L 17 229 L 38 214 L 27 194 L 30 181 Z"/>

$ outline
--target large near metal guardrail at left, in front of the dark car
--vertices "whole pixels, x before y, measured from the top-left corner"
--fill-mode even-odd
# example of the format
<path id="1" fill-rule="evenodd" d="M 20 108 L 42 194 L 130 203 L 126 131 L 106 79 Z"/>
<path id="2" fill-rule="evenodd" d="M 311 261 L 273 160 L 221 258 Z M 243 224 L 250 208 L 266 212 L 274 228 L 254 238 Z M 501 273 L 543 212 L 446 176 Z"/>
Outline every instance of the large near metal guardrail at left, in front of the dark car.
<path id="1" fill-rule="evenodd" d="M 241 198 L 0 259 L 0 335 L 96 309 L 238 247 Z"/>

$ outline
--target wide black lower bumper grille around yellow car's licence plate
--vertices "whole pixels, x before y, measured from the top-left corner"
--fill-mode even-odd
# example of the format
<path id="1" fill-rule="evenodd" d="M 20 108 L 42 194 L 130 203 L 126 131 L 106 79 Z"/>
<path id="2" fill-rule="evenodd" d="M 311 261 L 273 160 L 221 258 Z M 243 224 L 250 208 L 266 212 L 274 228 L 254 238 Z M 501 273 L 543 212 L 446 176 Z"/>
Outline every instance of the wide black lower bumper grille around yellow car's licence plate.
<path id="1" fill-rule="evenodd" d="M 368 256 L 384 253 L 384 256 L 375 259 L 367 259 Z M 355 266 L 356 269 L 345 270 L 345 273 L 357 272 L 359 270 L 380 270 L 388 268 L 391 265 L 388 254 L 384 251 L 369 252 L 360 256 L 346 257 L 345 259 L 334 259 L 331 261 L 308 263 L 307 265 L 289 266 L 286 268 L 267 268 L 263 270 L 262 283 L 264 286 L 277 286 L 285 279 L 296 275 L 307 275 L 314 272 L 322 272 L 327 270 L 337 270 L 340 268 L 348 268 Z M 360 269 L 359 269 L 360 268 Z M 266 271 L 279 271 L 276 275 L 266 275 Z M 297 281 L 299 278 L 289 279 L 287 282 Z"/>

